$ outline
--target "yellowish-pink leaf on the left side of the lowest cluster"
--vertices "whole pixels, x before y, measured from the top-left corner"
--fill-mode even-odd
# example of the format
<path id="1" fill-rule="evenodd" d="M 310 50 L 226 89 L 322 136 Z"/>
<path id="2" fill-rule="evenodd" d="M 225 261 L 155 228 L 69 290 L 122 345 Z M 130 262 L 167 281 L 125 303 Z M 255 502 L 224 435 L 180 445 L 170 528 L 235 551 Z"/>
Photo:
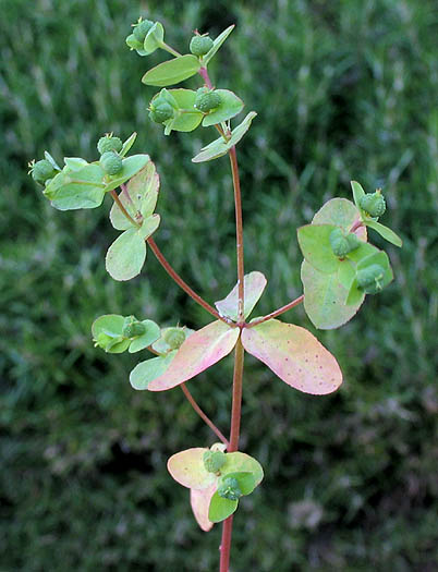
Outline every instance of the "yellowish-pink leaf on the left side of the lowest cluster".
<path id="1" fill-rule="evenodd" d="M 218 477 L 209 473 L 204 465 L 204 453 L 208 451 L 203 447 L 194 447 L 173 454 L 168 461 L 168 471 L 183 487 L 204 490 L 216 484 Z"/>

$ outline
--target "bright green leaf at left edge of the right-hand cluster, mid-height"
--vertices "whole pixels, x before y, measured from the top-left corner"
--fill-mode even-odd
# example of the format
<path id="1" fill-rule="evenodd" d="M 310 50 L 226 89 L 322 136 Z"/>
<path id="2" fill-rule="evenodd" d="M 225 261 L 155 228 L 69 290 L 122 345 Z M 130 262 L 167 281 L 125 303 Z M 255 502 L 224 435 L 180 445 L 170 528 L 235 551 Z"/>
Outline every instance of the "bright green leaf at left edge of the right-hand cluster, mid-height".
<path id="1" fill-rule="evenodd" d="M 340 259 L 330 246 L 330 233 L 334 224 L 306 224 L 297 232 L 299 244 L 304 258 L 319 272 L 331 275 L 338 271 Z"/>

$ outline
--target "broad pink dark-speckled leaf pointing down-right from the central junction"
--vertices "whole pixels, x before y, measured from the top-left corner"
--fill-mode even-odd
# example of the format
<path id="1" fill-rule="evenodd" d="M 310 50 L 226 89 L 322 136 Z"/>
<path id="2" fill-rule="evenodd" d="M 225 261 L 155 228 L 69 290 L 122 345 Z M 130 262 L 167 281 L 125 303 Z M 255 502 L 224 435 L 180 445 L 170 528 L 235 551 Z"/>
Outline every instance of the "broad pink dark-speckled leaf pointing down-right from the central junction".
<path id="1" fill-rule="evenodd" d="M 248 353 L 299 391 L 323 395 L 342 384 L 338 362 L 304 328 L 270 319 L 244 328 L 242 343 Z"/>

